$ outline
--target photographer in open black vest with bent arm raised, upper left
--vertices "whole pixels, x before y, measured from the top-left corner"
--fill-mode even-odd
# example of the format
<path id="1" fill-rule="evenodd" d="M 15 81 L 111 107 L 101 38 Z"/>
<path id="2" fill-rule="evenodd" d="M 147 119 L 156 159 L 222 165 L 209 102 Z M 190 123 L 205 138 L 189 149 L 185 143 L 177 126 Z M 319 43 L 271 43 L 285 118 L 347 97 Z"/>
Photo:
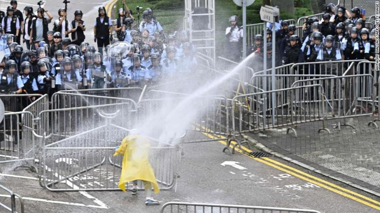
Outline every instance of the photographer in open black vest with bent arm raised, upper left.
<path id="1" fill-rule="evenodd" d="M 39 2 L 40 3 L 40 2 Z M 44 17 L 44 13 L 48 16 L 48 18 Z M 37 9 L 37 18 L 32 19 L 32 30 L 30 30 L 30 44 L 34 44 L 33 49 L 38 47 L 38 42 L 47 40 L 47 31 L 49 31 L 49 27 L 47 26 L 53 16 L 47 10 L 43 8 Z"/>

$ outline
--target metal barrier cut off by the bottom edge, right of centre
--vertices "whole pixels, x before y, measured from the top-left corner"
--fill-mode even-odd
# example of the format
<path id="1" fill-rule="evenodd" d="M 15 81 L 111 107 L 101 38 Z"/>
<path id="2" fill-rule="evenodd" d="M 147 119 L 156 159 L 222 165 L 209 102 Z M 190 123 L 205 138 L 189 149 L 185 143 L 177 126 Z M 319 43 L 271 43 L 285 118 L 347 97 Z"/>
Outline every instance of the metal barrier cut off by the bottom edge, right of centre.
<path id="1" fill-rule="evenodd" d="M 228 204 L 202 204 L 202 203 L 185 203 L 185 202 L 168 202 L 161 207 L 161 213 L 320 213 L 316 210 L 296 209 L 296 208 L 278 208 L 278 207 L 261 207 L 247 205 L 228 205 Z"/>

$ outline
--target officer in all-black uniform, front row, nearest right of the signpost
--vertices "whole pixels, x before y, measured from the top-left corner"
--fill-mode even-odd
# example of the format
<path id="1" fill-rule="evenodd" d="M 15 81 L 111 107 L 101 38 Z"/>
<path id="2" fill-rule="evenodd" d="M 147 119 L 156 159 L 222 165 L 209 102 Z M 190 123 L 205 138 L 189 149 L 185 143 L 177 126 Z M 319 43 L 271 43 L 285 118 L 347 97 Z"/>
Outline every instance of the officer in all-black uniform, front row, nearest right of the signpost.
<path id="1" fill-rule="evenodd" d="M 299 48 L 299 45 L 297 44 L 298 36 L 292 35 L 289 38 L 290 45 L 285 47 L 285 50 L 282 54 L 282 61 L 281 64 L 290 64 L 290 63 L 302 63 L 303 57 L 302 57 L 302 51 Z"/>

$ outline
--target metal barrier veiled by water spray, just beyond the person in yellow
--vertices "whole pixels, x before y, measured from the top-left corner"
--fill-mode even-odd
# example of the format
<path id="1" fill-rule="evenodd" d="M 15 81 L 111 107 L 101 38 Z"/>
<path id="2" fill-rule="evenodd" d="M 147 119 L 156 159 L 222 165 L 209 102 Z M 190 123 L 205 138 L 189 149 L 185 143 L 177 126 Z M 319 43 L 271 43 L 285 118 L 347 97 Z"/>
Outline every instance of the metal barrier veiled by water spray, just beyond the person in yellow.
<path id="1" fill-rule="evenodd" d="M 203 96 L 196 97 L 190 101 L 186 101 L 185 97 L 188 94 L 178 94 L 165 91 L 150 91 L 148 94 L 154 92 L 155 97 L 158 99 L 144 99 L 138 103 L 137 120 L 165 119 L 168 114 L 173 110 L 179 112 L 187 112 L 188 114 L 194 113 L 191 117 L 189 125 L 184 127 L 186 129 L 186 136 L 182 139 L 182 143 L 199 143 L 207 141 L 227 140 L 229 132 L 229 103 L 228 99 L 224 97 Z M 160 96 L 157 93 L 161 93 Z M 182 108 L 185 107 L 185 108 Z M 195 111 L 186 110 L 194 109 Z M 142 117 L 139 117 L 139 116 Z M 184 120 L 186 116 L 184 114 Z M 185 120 L 186 122 L 186 120 Z M 155 121 L 152 121 L 155 123 Z M 160 127 L 157 127 L 160 128 Z M 161 127 L 163 128 L 163 127 Z M 195 133 L 203 133 L 203 137 Z M 177 136 L 185 134 L 185 132 L 177 133 Z"/>

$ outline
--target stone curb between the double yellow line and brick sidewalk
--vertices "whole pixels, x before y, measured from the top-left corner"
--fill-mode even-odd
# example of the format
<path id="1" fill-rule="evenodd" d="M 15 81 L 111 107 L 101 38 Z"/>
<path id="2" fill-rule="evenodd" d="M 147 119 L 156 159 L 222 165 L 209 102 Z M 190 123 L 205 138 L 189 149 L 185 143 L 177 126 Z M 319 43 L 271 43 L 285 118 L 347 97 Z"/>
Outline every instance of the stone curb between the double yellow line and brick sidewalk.
<path id="1" fill-rule="evenodd" d="M 247 135 L 243 134 L 242 136 L 243 136 L 244 140 L 248 141 L 249 144 L 252 145 L 253 147 L 255 147 L 256 149 L 259 149 L 259 150 L 261 150 L 263 152 L 269 153 L 269 154 L 271 154 L 271 155 L 273 155 L 275 157 L 281 158 L 281 159 L 283 159 L 285 161 L 294 163 L 294 164 L 296 164 L 298 166 L 301 166 L 302 168 L 305 168 L 305 169 L 308 169 L 310 171 L 316 172 L 316 173 L 321 174 L 321 175 L 323 175 L 325 177 L 329 177 L 331 179 L 334 179 L 334 180 L 337 180 L 339 182 L 345 183 L 345 184 L 347 184 L 347 185 L 349 185 L 349 186 L 351 186 L 353 188 L 356 188 L 358 190 L 365 191 L 367 193 L 370 193 L 370 194 L 373 194 L 375 196 L 380 197 L 380 193 L 378 193 L 377 191 L 371 190 L 369 188 L 366 188 L 364 186 L 361 186 L 361 185 L 358 185 L 356 183 L 350 182 L 348 180 L 345 180 L 345 179 L 342 179 L 342 178 L 339 178 L 339 177 L 335 177 L 333 175 L 329 175 L 329 174 L 327 174 L 325 172 L 320 171 L 319 169 L 313 168 L 312 166 L 308 166 L 307 164 L 301 163 L 301 162 L 299 162 L 297 160 L 293 160 L 292 158 L 286 157 L 285 155 L 283 155 L 281 153 L 275 152 L 274 150 L 269 149 L 268 147 L 264 146 L 264 144 L 256 141 L 255 139 L 253 139 L 253 138 L 251 138 L 251 137 L 249 137 Z"/>

